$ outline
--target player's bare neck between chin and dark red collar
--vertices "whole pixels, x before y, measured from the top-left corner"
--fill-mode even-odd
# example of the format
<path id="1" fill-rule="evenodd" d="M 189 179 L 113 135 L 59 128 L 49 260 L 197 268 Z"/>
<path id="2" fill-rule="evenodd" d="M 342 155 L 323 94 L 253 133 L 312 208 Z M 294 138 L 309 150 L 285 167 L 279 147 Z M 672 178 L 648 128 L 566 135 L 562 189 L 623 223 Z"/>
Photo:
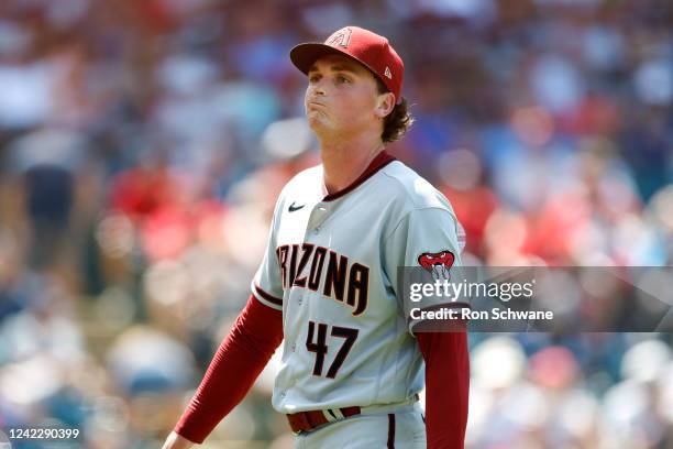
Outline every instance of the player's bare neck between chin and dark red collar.
<path id="1" fill-rule="evenodd" d="M 323 182 L 329 194 L 350 186 L 384 149 L 380 139 L 320 142 Z"/>

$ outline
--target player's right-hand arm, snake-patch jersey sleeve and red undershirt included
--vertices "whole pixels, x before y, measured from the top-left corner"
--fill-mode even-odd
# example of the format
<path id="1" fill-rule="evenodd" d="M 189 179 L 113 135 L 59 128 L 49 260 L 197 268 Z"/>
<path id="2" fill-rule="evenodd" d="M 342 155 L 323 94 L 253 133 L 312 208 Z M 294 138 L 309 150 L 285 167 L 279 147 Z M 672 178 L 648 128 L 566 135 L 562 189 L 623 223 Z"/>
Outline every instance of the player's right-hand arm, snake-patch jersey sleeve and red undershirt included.
<path id="1" fill-rule="evenodd" d="M 443 208 L 423 208 L 409 212 L 399 221 L 386 240 L 386 270 L 393 287 L 397 288 L 397 267 L 423 266 L 423 254 L 442 263 L 454 274 L 461 264 L 457 241 L 459 225 L 453 213 Z M 445 258 L 450 253 L 452 258 Z M 448 262 L 451 261 L 451 262 Z M 404 298 L 404 292 L 397 292 Z M 410 317 L 408 302 L 401 305 Z M 431 298 L 426 306 L 456 306 L 446 298 Z M 409 319 L 409 330 L 417 338 L 426 362 L 426 432 L 428 448 L 462 449 L 467 423 L 470 359 L 464 322 L 444 324 Z M 443 330 L 443 331 L 442 331 Z"/>

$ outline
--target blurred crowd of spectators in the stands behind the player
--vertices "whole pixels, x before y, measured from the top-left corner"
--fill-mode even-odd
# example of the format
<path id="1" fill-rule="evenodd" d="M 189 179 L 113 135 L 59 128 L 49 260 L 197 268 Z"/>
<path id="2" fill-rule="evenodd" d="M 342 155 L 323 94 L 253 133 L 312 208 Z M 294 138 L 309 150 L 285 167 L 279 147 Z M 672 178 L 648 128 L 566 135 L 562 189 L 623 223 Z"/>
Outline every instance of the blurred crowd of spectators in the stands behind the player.
<path id="1" fill-rule="evenodd" d="M 159 446 L 319 163 L 288 51 L 346 24 L 405 59 L 389 151 L 465 264 L 672 264 L 668 0 L 3 0 L 0 429 Z M 468 448 L 673 448 L 671 335 L 470 338 Z M 291 447 L 276 365 L 210 447 Z"/>

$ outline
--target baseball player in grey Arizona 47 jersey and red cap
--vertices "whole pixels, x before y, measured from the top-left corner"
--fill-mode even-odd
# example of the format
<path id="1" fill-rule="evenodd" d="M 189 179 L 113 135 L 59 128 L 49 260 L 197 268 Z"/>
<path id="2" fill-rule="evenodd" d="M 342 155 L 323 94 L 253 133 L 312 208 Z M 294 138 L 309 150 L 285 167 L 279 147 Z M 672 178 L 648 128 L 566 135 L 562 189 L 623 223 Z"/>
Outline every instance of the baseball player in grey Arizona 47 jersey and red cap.
<path id="1" fill-rule="evenodd" d="M 164 448 L 202 442 L 280 342 L 273 406 L 297 448 L 462 448 L 466 333 L 415 331 L 397 286 L 400 266 L 460 264 L 451 205 L 385 151 L 411 121 L 402 61 L 356 26 L 290 59 L 322 164 L 280 193 L 252 295 Z"/>

